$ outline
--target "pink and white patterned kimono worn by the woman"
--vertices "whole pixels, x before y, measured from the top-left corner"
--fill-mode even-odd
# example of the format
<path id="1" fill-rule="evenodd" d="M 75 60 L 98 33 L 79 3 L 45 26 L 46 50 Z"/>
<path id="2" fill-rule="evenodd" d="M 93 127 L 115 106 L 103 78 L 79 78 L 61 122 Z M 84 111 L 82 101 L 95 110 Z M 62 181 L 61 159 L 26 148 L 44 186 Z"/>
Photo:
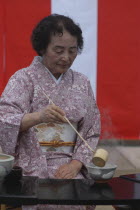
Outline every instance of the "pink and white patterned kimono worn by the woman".
<path id="1" fill-rule="evenodd" d="M 25 114 L 37 112 L 49 104 L 43 92 L 64 110 L 71 122 L 78 124 L 78 132 L 92 149 L 96 148 L 100 134 L 100 114 L 89 80 L 83 74 L 69 69 L 63 74 L 60 83 L 56 84 L 39 56 L 34 58 L 29 67 L 17 71 L 10 78 L 0 98 L 0 146 L 4 153 L 15 156 L 15 165 L 23 168 L 24 175 L 54 178 L 60 165 L 76 159 L 83 163 L 76 178 L 84 178 L 92 152 L 78 136 L 73 152 L 44 153 L 34 128 L 19 131 Z"/>

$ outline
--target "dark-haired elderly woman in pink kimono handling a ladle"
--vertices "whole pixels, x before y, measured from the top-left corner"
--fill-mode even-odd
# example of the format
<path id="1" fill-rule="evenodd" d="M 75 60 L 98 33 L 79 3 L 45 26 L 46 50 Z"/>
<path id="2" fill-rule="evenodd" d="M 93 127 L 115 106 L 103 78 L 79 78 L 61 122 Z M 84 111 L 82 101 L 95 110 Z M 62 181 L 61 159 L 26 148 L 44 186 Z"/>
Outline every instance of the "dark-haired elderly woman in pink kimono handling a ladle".
<path id="1" fill-rule="evenodd" d="M 83 48 L 82 31 L 69 17 L 54 14 L 38 23 L 31 41 L 39 56 L 10 78 L 0 99 L 2 150 L 15 156 L 24 175 L 86 178 L 92 152 L 66 120 L 94 150 L 100 114 L 88 78 L 70 69 Z"/>

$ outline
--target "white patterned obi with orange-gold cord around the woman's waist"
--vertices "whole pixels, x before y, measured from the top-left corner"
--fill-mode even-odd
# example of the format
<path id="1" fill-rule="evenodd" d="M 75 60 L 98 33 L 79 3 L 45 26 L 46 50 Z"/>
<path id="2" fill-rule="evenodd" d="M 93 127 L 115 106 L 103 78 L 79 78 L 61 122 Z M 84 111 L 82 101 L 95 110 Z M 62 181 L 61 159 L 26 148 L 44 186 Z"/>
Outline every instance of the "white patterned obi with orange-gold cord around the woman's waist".
<path id="1" fill-rule="evenodd" d="M 72 125 L 77 129 L 77 123 Z M 75 143 L 76 132 L 68 123 L 41 123 L 34 128 L 43 152 L 73 152 L 74 146 L 71 145 Z"/>

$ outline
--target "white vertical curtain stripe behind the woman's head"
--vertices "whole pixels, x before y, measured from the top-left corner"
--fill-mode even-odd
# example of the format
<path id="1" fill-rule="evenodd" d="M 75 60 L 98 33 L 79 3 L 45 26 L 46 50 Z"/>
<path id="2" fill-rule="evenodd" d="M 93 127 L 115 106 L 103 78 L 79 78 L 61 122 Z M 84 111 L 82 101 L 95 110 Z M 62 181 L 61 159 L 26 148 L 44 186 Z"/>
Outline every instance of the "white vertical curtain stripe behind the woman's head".
<path id="1" fill-rule="evenodd" d="M 87 75 L 96 95 L 97 69 L 97 0 L 52 0 L 52 13 L 63 14 L 79 23 L 83 31 L 84 50 L 72 69 Z"/>

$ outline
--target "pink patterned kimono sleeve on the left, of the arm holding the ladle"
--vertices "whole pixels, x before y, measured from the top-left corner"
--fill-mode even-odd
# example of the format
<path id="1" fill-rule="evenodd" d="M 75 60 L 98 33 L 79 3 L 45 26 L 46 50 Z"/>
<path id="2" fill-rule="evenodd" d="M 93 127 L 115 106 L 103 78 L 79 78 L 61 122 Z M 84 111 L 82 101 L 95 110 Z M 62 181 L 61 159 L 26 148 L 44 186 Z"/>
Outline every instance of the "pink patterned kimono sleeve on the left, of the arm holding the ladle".
<path id="1" fill-rule="evenodd" d="M 0 146 L 7 154 L 15 155 L 20 124 L 29 112 L 32 82 L 22 70 L 9 80 L 0 98 Z"/>

